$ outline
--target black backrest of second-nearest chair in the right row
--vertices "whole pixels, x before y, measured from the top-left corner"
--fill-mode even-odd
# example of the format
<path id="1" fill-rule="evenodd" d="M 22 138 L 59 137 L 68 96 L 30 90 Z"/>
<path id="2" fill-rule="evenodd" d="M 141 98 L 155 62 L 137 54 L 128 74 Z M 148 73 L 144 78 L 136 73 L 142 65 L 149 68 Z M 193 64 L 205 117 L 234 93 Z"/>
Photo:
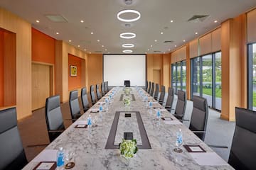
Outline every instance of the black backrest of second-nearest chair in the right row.
<path id="1" fill-rule="evenodd" d="M 201 140 L 206 135 L 206 125 L 208 120 L 208 104 L 206 98 L 193 96 L 193 110 L 191 113 L 191 123 L 189 129 Z"/>

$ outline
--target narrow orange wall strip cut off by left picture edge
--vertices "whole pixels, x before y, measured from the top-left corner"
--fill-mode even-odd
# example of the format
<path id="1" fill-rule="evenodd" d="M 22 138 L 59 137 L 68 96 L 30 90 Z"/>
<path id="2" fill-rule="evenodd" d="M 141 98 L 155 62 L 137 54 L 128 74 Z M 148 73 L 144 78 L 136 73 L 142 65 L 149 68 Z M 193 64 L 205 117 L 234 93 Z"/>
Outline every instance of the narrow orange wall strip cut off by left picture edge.
<path id="1" fill-rule="evenodd" d="M 4 106 L 4 32 L 0 30 L 0 107 Z"/>

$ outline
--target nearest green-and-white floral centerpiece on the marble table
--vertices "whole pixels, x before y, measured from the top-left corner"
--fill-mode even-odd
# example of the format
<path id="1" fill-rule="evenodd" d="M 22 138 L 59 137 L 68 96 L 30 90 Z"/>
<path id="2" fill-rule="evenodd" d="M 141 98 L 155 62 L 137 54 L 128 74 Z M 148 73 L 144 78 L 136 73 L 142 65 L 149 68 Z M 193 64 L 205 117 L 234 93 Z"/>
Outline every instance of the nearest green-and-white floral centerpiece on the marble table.
<path id="1" fill-rule="evenodd" d="M 119 150 L 121 155 L 127 158 L 134 157 L 134 154 L 137 153 L 137 141 L 136 140 L 122 140 L 122 143 L 119 144 Z"/>

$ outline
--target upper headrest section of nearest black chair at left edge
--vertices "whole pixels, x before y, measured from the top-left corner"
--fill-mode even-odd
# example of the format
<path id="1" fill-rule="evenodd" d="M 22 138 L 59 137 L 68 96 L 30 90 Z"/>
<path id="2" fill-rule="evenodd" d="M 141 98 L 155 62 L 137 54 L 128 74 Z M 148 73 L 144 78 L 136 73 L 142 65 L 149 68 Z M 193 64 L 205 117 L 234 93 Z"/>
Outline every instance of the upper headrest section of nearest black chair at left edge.
<path id="1" fill-rule="evenodd" d="M 17 126 L 16 108 L 0 111 L 0 133 Z"/>

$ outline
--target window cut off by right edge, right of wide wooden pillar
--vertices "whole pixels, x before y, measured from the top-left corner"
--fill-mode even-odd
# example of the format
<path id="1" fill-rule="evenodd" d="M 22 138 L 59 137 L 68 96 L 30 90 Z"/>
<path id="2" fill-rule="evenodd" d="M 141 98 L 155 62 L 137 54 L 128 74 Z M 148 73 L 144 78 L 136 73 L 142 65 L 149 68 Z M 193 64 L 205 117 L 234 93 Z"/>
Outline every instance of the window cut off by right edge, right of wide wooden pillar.
<path id="1" fill-rule="evenodd" d="M 256 42 L 248 45 L 248 108 L 256 111 Z"/>

